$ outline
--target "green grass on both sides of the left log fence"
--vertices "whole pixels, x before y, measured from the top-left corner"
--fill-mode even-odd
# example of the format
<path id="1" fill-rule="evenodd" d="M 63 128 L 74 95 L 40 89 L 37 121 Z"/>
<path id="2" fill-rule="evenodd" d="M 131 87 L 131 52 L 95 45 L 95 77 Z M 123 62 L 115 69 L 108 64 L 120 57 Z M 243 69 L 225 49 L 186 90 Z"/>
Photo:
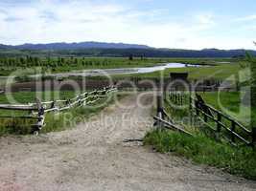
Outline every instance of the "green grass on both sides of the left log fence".
<path id="1" fill-rule="evenodd" d="M 42 100 L 49 101 L 58 98 L 71 98 L 75 96 L 74 92 L 45 92 L 42 93 Z M 35 93 L 14 93 L 12 96 L 19 101 L 19 103 L 35 102 Z M 79 107 L 73 108 L 62 113 L 50 113 L 46 115 L 46 126 L 43 128 L 42 133 L 48 133 L 53 131 L 61 131 L 67 128 L 75 127 L 77 123 L 86 120 L 88 117 L 95 115 L 102 111 L 106 106 L 113 103 L 116 99 L 122 98 L 120 95 L 112 95 L 110 98 L 102 99 L 97 104 L 90 106 L 93 107 Z M 0 103 L 8 103 L 7 96 L 0 96 Z M 1 110 L 1 115 L 11 116 L 28 116 L 27 112 L 13 112 Z M 18 118 L 0 118 L 0 136 L 5 135 L 27 135 L 32 131 L 32 125 L 35 124 L 35 119 L 18 119 Z"/>

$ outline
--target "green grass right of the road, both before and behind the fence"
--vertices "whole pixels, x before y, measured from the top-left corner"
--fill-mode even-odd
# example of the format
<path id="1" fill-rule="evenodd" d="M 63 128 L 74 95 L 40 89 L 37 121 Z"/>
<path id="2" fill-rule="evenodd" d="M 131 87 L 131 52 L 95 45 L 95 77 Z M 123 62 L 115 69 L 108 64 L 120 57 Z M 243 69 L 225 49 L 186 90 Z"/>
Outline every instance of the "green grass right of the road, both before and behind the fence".
<path id="1" fill-rule="evenodd" d="M 223 113 L 230 115 L 228 111 L 233 112 L 232 117 L 240 122 L 246 121 L 250 116 L 244 113 L 246 108 L 241 105 L 241 97 L 237 92 L 221 92 L 220 99 L 218 93 L 200 93 L 206 103 L 221 110 Z M 221 105 L 220 102 L 221 101 Z M 184 121 L 184 117 L 189 117 L 188 107 L 185 109 L 175 109 L 174 107 L 165 104 L 166 111 L 172 119 L 177 123 Z M 241 115 L 237 115 L 242 110 Z M 252 112 L 252 117 L 256 117 L 255 108 Z M 222 123 L 227 121 L 222 119 Z M 209 124 L 212 124 L 209 121 Z M 216 126 L 215 123 L 212 125 Z M 230 124 L 229 124 L 230 125 Z M 187 131 L 192 133 L 194 137 L 176 133 L 173 131 L 152 131 L 144 138 L 146 145 L 152 145 L 158 152 L 169 153 L 192 159 L 196 163 L 216 166 L 222 170 L 242 176 L 247 179 L 256 180 L 256 151 L 255 149 L 240 145 L 232 146 L 222 138 L 227 136 L 227 133 L 222 129 L 220 135 L 214 134 L 207 126 L 194 123 L 192 126 L 189 123 L 183 123 Z M 249 128 L 249 126 L 247 126 Z M 236 130 L 239 131 L 239 130 Z"/>

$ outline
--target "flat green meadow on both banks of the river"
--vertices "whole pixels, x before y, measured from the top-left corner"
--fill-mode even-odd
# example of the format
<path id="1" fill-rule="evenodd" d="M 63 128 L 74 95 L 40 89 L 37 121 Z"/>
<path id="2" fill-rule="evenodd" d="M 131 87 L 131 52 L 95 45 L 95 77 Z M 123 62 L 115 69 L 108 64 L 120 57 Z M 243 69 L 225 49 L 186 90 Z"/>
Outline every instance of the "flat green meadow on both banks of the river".
<path id="1" fill-rule="evenodd" d="M 50 73 L 66 73 L 71 71 L 81 71 L 87 69 L 113 69 L 113 68 L 139 68 L 139 67 L 151 67 L 156 65 L 162 65 L 163 63 L 184 63 L 184 64 L 199 64 L 199 65 L 211 65 L 211 67 L 186 67 L 186 68 L 173 68 L 166 69 L 164 72 L 153 72 L 150 74 L 114 74 L 112 78 L 124 79 L 124 78 L 147 78 L 155 79 L 162 76 L 165 78 L 170 77 L 170 73 L 189 73 L 189 79 L 225 79 L 232 74 L 238 74 L 241 67 L 241 62 L 233 59 L 221 59 L 221 58 L 138 58 L 134 57 L 133 60 L 128 60 L 128 57 L 74 57 L 65 58 L 64 64 L 58 64 L 58 58 L 51 58 L 52 64 L 48 64 L 45 58 L 41 58 L 41 67 L 44 71 Z M 77 60 L 75 62 L 75 60 Z M 221 61 L 229 61 L 230 64 L 220 63 Z M 75 62 L 75 63 L 73 63 Z M 17 69 L 24 70 L 27 66 L 0 66 L 0 75 L 9 75 Z M 30 66 L 30 69 L 36 69 L 35 66 Z M 30 72 L 30 74 L 35 74 Z M 21 74 L 16 79 L 19 81 L 31 81 L 28 74 Z M 99 76 L 97 76 L 99 77 Z M 92 77 L 92 78 L 97 78 Z M 90 77 L 89 77 L 90 78 Z M 104 77 L 102 77 L 104 78 Z"/>

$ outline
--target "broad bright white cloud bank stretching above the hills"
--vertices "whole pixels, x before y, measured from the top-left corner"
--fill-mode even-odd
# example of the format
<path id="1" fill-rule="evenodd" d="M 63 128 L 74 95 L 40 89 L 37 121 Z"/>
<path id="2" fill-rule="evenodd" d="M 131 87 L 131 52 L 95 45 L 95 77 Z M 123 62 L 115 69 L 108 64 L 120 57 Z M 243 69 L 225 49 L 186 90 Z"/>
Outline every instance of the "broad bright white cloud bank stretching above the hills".
<path id="1" fill-rule="evenodd" d="M 40 0 L 5 10 L 0 10 L 0 43 L 6 44 L 93 40 L 167 48 L 231 49 L 250 47 L 248 42 L 252 42 L 245 37 L 234 41 L 231 36 L 210 35 L 217 25 L 213 13 L 196 13 L 177 22 L 165 17 L 170 14 L 166 9 L 139 11 L 89 0 Z"/>

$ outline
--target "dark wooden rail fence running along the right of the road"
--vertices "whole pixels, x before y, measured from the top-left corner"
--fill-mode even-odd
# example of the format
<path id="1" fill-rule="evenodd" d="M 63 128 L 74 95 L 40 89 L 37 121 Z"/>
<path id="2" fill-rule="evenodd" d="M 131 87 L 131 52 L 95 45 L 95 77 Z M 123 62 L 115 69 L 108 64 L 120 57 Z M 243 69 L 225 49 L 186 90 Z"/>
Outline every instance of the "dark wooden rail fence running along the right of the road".
<path id="1" fill-rule="evenodd" d="M 216 135 L 228 138 L 230 142 L 235 144 L 242 142 L 246 145 L 255 146 L 255 128 L 248 130 L 243 124 L 233 117 L 225 115 L 213 106 L 205 103 L 203 98 L 198 94 L 196 94 L 196 97 L 192 97 L 191 93 L 171 90 L 164 96 L 164 98 L 169 101 L 171 100 L 176 106 L 186 105 L 191 114 L 190 117 L 193 117 L 191 118 L 191 121 L 196 120 L 197 118 L 200 119 L 203 124 L 215 132 Z M 162 105 L 162 102 L 161 104 L 160 101 L 157 102 L 158 118 L 154 117 L 154 119 L 158 119 L 158 121 L 160 121 L 159 118 L 162 118 L 162 120 L 164 120 L 163 116 L 165 116 L 164 114 L 166 113 L 164 106 Z M 174 122 L 172 124 L 174 124 Z"/>

